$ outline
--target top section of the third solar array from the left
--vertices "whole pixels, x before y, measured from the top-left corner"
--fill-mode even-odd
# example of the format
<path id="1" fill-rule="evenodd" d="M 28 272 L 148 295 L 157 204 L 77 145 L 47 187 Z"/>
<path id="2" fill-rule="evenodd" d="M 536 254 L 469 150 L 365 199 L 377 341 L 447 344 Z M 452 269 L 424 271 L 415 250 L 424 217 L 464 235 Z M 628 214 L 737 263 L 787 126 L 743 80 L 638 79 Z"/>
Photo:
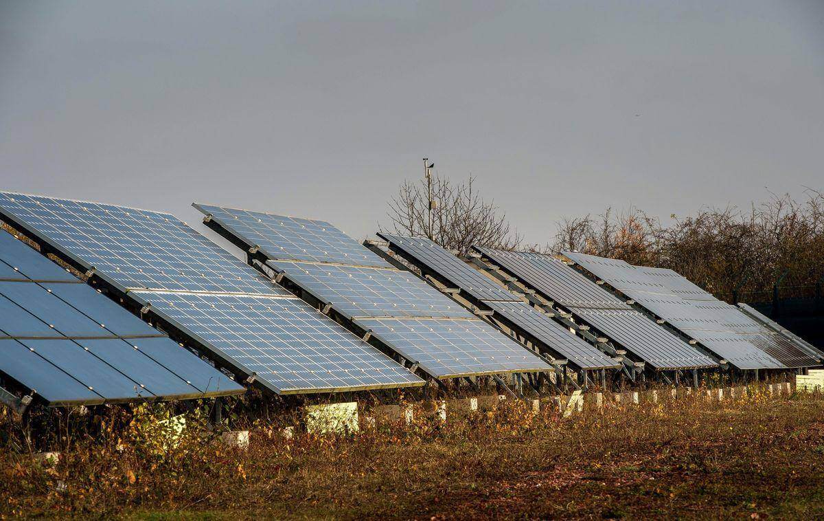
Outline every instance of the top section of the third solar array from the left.
<path id="1" fill-rule="evenodd" d="M 255 245 L 269 259 L 337 262 L 348 265 L 391 267 L 381 257 L 325 221 L 192 204 L 218 221 L 236 237 L 255 237 Z"/>

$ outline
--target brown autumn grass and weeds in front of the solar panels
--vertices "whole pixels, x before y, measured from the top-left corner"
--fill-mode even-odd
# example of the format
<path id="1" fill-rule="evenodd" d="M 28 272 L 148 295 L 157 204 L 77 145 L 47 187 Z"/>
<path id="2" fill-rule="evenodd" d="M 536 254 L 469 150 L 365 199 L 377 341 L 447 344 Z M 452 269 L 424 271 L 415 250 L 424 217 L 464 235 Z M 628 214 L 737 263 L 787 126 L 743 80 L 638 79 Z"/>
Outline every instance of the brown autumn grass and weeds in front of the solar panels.
<path id="1" fill-rule="evenodd" d="M 135 417 L 70 429 L 54 468 L 0 453 L 0 515 L 149 519 L 824 516 L 824 401 L 611 406 L 562 419 L 510 404 L 445 425 L 250 448 L 196 429 L 165 450 Z M 124 425 L 129 425 L 128 423 Z"/>

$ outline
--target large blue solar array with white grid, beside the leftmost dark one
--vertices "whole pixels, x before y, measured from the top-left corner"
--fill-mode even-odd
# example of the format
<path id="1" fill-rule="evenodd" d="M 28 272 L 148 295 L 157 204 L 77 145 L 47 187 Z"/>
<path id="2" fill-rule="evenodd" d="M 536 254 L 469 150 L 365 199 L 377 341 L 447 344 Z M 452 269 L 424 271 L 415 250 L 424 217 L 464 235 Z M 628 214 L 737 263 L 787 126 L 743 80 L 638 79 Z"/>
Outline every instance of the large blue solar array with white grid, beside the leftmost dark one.
<path id="1" fill-rule="evenodd" d="M 0 214 L 272 392 L 424 384 L 171 214 L 10 193 Z"/>

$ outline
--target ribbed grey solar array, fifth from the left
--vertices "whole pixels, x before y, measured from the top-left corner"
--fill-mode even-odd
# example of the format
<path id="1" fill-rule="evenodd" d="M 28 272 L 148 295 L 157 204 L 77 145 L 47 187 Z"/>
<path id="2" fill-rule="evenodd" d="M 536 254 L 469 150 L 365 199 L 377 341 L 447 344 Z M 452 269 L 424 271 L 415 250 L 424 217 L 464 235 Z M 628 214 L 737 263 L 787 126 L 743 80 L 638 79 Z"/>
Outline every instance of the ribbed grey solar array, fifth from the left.
<path id="1" fill-rule="evenodd" d="M 554 257 L 481 247 L 475 250 L 654 368 L 718 365 L 714 359 Z"/>

